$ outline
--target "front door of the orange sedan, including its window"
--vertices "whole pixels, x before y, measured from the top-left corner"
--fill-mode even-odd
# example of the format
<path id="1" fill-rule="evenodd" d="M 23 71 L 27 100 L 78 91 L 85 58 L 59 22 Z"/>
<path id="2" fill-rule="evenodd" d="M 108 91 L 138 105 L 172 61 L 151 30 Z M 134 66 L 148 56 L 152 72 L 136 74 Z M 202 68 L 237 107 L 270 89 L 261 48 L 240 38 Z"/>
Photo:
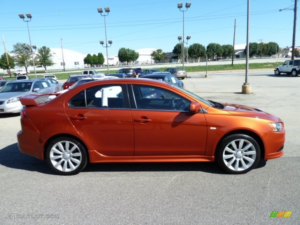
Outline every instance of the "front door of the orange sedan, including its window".
<path id="1" fill-rule="evenodd" d="M 167 89 L 132 85 L 134 155 L 204 155 L 206 120 L 191 100 Z"/>

